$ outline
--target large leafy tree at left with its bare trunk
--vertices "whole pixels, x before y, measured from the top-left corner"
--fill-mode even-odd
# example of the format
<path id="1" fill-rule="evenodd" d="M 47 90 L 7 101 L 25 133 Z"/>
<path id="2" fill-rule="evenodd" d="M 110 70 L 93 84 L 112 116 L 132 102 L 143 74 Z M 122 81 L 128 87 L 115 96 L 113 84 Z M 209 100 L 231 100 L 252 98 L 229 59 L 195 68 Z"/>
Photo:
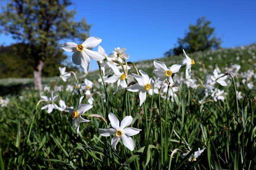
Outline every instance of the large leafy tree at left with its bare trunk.
<path id="1" fill-rule="evenodd" d="M 45 60 L 61 59 L 60 40 L 87 38 L 90 25 L 85 19 L 74 21 L 76 11 L 67 10 L 72 4 L 71 0 L 11 0 L 0 13 L 2 31 L 27 45 L 26 52 L 34 63 L 35 89 L 42 89 Z"/>

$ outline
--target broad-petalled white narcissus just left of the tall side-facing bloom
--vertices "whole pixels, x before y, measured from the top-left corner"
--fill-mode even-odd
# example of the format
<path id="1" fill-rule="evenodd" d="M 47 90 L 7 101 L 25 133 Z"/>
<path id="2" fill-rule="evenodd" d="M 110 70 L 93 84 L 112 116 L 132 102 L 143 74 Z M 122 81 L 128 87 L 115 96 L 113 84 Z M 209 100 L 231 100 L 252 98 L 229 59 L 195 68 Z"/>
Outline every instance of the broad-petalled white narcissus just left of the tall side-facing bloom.
<path id="1" fill-rule="evenodd" d="M 160 61 L 154 61 L 155 70 L 153 73 L 159 78 L 161 84 L 164 84 L 165 80 L 168 78 L 170 83 L 174 83 L 172 79 L 172 74 L 180 70 L 181 65 L 175 64 L 167 68 L 167 66 Z"/>

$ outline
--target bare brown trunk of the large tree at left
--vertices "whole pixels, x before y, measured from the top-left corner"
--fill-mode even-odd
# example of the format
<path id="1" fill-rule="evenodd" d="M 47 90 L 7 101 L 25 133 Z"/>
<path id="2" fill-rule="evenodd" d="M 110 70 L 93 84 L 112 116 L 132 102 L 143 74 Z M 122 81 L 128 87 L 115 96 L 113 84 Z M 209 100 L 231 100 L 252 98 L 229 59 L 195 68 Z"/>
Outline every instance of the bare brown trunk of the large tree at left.
<path id="1" fill-rule="evenodd" d="M 35 90 L 42 90 L 42 69 L 44 66 L 44 62 L 42 60 L 39 60 L 36 62 L 36 67 L 34 69 L 34 88 Z"/>

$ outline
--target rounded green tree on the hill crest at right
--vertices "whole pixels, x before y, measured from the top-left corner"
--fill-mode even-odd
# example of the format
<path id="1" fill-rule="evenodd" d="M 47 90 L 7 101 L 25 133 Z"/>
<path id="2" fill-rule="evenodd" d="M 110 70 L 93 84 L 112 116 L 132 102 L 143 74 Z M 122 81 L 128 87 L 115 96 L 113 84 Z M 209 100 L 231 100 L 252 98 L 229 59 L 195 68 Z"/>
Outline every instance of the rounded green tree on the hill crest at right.
<path id="1" fill-rule="evenodd" d="M 190 25 L 183 39 L 178 38 L 178 45 L 164 53 L 166 56 L 179 55 L 184 49 L 188 53 L 220 48 L 221 39 L 215 36 L 214 27 L 205 17 L 197 20 L 196 25 Z"/>

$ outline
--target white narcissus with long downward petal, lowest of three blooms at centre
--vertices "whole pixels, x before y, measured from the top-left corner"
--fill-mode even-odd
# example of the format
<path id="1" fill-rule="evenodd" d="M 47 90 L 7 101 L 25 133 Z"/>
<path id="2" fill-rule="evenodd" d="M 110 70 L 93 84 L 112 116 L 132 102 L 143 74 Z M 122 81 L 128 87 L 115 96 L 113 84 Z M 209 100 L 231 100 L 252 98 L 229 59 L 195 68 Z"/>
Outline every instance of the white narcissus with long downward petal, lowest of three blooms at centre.
<path id="1" fill-rule="evenodd" d="M 144 103 L 147 97 L 147 91 L 153 87 L 153 82 L 151 81 L 152 78 L 149 78 L 147 73 L 140 70 L 140 75 L 132 73 L 133 77 L 138 81 L 138 83 L 127 87 L 126 89 L 131 92 L 138 92 L 140 91 L 139 98 L 140 98 L 140 106 Z"/>

